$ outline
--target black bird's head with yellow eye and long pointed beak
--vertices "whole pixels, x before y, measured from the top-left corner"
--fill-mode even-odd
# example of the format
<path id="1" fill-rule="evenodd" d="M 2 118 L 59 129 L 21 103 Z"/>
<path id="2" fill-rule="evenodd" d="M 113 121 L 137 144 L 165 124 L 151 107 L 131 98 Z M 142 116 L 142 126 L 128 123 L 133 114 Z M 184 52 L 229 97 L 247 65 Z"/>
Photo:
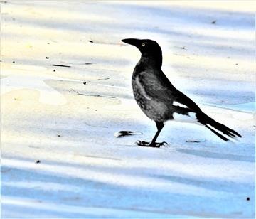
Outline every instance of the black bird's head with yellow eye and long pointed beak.
<path id="1" fill-rule="evenodd" d="M 135 39 L 135 38 L 128 38 L 123 39 L 122 42 L 128 43 L 132 46 L 136 46 L 139 51 L 142 53 L 142 57 L 144 58 L 153 58 L 161 65 L 162 62 L 162 52 L 161 47 L 159 46 L 156 41 L 152 41 L 149 39 Z"/>

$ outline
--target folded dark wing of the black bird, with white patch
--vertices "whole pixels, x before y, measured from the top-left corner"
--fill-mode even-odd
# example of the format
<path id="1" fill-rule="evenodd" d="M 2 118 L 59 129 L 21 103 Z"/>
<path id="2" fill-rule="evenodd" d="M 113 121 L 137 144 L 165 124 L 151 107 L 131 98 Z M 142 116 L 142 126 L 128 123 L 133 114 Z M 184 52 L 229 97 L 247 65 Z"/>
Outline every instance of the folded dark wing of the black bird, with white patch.
<path id="1" fill-rule="evenodd" d="M 188 108 L 188 111 L 201 112 L 193 100 L 177 90 L 166 78 L 164 73 L 142 72 L 138 75 L 137 83 L 144 89 L 149 98 L 154 100 L 170 102 L 176 107 Z"/>

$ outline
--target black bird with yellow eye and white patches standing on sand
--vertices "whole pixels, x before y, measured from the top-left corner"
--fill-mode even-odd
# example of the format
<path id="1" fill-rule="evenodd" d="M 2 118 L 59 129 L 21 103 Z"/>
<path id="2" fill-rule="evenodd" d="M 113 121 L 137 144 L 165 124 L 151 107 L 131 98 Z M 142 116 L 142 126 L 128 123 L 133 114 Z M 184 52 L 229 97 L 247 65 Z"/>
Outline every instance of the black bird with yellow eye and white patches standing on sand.
<path id="1" fill-rule="evenodd" d="M 127 38 L 122 42 L 136 46 L 142 53 L 132 75 L 132 89 L 137 104 L 149 119 L 156 122 L 157 127 L 151 142 L 137 141 L 139 146 L 159 147 L 166 143 L 156 143 L 164 122 L 181 117 L 203 124 L 224 141 L 229 140 L 227 137 L 242 137 L 233 129 L 208 117 L 193 100 L 171 84 L 161 70 L 162 52 L 156 41 Z"/>

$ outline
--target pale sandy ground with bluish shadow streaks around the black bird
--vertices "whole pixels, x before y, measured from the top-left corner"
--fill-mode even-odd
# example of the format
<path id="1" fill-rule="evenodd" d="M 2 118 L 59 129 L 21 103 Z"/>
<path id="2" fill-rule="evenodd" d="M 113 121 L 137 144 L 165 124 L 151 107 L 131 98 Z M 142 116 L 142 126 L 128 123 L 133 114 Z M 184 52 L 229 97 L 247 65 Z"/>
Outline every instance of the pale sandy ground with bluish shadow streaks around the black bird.
<path id="1" fill-rule="evenodd" d="M 254 218 L 254 11 L 253 1 L 2 1 L 2 218 Z M 135 146 L 156 127 L 133 100 L 139 51 L 122 38 L 158 41 L 171 82 L 243 138 L 167 122 L 168 146 Z"/>

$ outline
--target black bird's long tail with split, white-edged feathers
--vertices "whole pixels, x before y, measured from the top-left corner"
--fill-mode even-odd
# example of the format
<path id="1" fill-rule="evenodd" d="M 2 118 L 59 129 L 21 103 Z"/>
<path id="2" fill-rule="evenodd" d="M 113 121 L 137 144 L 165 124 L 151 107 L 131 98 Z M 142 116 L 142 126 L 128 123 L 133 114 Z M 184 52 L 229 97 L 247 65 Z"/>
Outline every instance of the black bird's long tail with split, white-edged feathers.
<path id="1" fill-rule="evenodd" d="M 225 136 L 231 138 L 242 137 L 238 132 L 235 132 L 235 130 L 226 127 L 224 124 L 216 122 L 214 119 L 208 117 L 208 115 L 203 112 L 197 113 L 196 117 L 198 119 L 198 122 L 205 125 L 206 128 L 210 129 L 210 131 L 212 131 L 214 134 L 216 134 L 218 137 L 220 137 L 220 139 L 223 139 L 224 141 L 229 140 Z"/>

